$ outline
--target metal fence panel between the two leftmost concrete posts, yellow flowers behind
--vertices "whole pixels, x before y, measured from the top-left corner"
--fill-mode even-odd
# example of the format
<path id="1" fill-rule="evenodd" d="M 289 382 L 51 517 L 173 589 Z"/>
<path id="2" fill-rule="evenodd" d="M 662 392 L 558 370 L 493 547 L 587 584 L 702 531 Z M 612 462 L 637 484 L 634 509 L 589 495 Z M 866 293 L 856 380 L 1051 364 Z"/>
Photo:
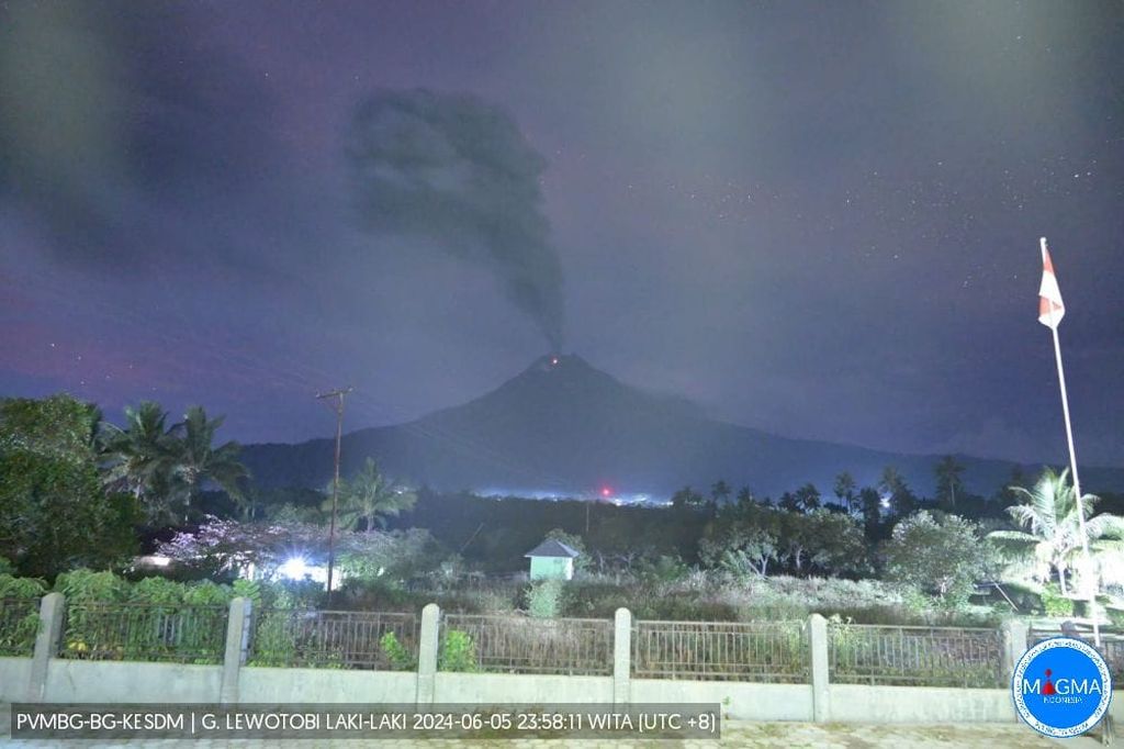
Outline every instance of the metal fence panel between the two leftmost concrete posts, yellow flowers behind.
<path id="1" fill-rule="evenodd" d="M 220 664 L 226 606 L 70 604 L 61 658 Z"/>

